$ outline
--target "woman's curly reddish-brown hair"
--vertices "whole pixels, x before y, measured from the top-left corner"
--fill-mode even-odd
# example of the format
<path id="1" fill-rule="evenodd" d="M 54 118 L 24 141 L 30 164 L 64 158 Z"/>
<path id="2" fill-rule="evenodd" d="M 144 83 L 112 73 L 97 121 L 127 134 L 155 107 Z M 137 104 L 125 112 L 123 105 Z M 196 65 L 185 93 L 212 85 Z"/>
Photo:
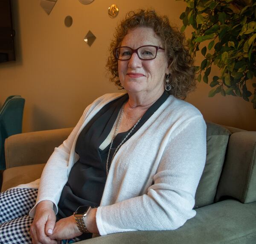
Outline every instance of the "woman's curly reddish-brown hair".
<path id="1" fill-rule="evenodd" d="M 170 65 L 172 89 L 169 94 L 185 99 L 188 92 L 195 88 L 194 60 L 189 54 L 184 34 L 180 33 L 176 27 L 170 26 L 167 16 L 159 16 L 154 10 L 130 11 L 116 27 L 114 40 L 110 44 L 110 57 L 108 57 L 106 64 L 111 73 L 110 81 L 122 88 L 118 74 L 118 60 L 115 58 L 115 48 L 121 45 L 129 30 L 137 27 L 150 27 L 160 37 Z"/>

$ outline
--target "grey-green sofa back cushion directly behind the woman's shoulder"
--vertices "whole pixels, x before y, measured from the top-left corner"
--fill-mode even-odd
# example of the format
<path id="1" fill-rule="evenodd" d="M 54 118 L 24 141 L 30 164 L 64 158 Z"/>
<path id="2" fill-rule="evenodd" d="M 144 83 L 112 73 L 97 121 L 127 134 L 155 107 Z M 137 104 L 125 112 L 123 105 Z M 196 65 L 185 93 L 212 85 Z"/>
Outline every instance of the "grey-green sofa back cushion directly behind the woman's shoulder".
<path id="1" fill-rule="evenodd" d="M 195 208 L 214 202 L 229 137 L 226 128 L 207 122 L 207 158 L 195 195 Z"/>

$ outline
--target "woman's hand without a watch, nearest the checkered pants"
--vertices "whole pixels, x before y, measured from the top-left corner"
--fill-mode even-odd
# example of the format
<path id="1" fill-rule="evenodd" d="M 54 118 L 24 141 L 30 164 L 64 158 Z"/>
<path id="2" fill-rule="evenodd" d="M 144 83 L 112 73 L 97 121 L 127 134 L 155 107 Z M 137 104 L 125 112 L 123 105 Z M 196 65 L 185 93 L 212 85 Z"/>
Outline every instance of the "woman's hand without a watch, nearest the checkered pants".
<path id="1" fill-rule="evenodd" d="M 57 244 L 57 241 L 49 238 L 52 235 L 56 222 L 53 211 L 53 203 L 44 200 L 36 206 L 35 217 L 30 228 L 30 235 L 33 244 Z"/>

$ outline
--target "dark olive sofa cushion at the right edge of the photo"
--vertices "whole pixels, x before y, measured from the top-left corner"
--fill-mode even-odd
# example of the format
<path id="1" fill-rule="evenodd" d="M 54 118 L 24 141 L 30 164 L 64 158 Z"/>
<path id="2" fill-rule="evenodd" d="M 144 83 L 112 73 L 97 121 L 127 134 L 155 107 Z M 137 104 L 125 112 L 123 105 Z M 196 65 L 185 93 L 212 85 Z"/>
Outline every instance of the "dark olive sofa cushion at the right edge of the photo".
<path id="1" fill-rule="evenodd" d="M 215 200 L 226 196 L 243 203 L 256 201 L 256 131 L 230 136 Z"/>

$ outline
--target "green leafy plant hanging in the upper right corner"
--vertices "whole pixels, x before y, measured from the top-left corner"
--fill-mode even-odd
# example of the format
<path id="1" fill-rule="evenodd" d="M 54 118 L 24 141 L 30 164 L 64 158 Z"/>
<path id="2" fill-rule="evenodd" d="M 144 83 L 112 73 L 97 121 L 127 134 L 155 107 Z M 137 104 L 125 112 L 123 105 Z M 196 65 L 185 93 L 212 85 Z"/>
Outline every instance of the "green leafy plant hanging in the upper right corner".
<path id="1" fill-rule="evenodd" d="M 181 31 L 192 26 L 190 52 L 204 56 L 196 66 L 198 82 L 209 82 L 212 65 L 221 70 L 209 85 L 209 97 L 241 96 L 256 109 L 256 0 L 184 0 Z M 249 87 L 249 89 L 247 88 Z M 252 87 L 252 88 L 251 88 Z"/>

